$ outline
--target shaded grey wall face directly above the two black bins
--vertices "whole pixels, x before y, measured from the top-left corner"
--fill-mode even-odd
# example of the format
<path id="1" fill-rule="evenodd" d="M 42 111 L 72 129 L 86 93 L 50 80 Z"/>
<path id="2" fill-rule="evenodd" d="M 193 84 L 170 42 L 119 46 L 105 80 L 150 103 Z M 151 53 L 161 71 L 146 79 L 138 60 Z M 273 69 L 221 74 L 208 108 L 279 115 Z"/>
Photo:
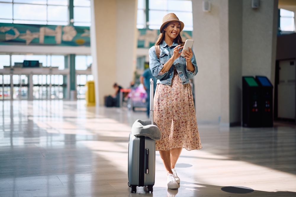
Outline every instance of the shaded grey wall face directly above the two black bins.
<path id="1" fill-rule="evenodd" d="M 277 0 L 260 0 L 259 9 L 243 0 L 242 75 L 264 75 L 274 84 Z"/>

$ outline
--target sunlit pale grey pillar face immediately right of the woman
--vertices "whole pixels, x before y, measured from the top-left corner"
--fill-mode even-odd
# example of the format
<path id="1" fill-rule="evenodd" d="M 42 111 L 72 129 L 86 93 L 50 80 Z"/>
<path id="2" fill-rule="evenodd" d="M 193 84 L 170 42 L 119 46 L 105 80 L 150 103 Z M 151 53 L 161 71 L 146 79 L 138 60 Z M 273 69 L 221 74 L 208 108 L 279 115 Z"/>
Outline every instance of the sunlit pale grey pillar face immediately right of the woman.
<path id="1" fill-rule="evenodd" d="M 210 2 L 211 12 L 203 12 L 202 0 L 192 0 L 196 116 L 211 123 L 221 117 L 229 125 L 228 1 Z"/>

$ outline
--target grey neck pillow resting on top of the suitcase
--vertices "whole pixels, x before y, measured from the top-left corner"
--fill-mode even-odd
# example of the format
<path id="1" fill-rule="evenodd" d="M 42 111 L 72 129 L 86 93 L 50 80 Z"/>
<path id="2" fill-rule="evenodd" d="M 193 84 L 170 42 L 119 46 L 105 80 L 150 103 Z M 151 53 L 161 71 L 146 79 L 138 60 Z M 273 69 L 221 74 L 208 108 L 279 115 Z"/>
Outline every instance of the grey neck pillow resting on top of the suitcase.
<path id="1" fill-rule="evenodd" d="M 131 128 L 131 133 L 134 136 L 147 136 L 154 140 L 161 139 L 161 131 L 157 124 L 151 124 L 151 121 L 136 120 Z"/>

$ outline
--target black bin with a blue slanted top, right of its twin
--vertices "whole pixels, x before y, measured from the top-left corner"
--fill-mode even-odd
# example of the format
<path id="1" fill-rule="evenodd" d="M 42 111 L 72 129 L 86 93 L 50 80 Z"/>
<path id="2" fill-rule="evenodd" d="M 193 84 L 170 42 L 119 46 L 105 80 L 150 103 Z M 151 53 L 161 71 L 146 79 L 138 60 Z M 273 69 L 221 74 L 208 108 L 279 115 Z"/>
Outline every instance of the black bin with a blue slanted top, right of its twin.
<path id="1" fill-rule="evenodd" d="M 260 119 L 262 127 L 272 127 L 273 122 L 273 85 L 266 76 L 256 76 L 256 81 L 260 86 Z"/>

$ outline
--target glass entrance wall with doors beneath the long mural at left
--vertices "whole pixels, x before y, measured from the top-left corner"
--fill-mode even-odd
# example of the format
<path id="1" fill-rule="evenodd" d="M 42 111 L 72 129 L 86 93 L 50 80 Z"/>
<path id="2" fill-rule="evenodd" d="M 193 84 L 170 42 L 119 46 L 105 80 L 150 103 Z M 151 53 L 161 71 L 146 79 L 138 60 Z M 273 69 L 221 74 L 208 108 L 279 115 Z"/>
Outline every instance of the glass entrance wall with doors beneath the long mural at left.
<path id="1" fill-rule="evenodd" d="M 65 56 L 59 55 L 11 55 L 12 66 L 17 72 L 22 71 L 24 60 L 38 60 L 42 67 L 58 67 L 59 70 L 65 69 Z M 0 65 L 9 66 L 10 56 L 0 55 Z M 75 69 L 78 74 L 76 77 L 77 98 L 84 99 L 86 87 L 85 84 L 89 80 L 94 80 L 91 75 L 91 56 L 75 56 Z M 79 71 L 83 70 L 83 74 Z M 27 70 L 26 70 L 27 71 Z M 34 70 L 32 70 L 34 71 Z M 40 70 L 41 71 L 41 70 Z M 63 99 L 68 97 L 69 90 L 67 88 L 67 77 L 64 71 L 61 74 L 33 74 L 33 99 Z M 48 69 L 45 69 L 49 73 Z M 57 72 L 57 70 L 55 70 Z M 28 72 L 26 72 L 28 73 Z M 0 75 L 0 100 L 10 99 L 28 99 L 29 91 L 29 75 L 12 75 L 13 92 L 10 92 L 10 75 Z"/>

